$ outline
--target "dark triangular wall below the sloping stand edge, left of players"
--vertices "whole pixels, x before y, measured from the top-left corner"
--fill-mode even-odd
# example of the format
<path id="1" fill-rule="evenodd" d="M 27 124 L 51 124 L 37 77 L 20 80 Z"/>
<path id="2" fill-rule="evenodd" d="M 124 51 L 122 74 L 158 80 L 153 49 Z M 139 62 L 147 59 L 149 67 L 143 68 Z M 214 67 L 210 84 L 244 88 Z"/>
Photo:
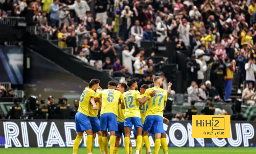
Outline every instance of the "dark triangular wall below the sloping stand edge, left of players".
<path id="1" fill-rule="evenodd" d="M 73 105 L 73 100 L 79 99 L 84 88 L 88 86 L 86 81 L 26 47 L 24 57 L 24 90 L 27 97 L 34 94 L 40 100 L 52 95 L 55 102 L 59 97 L 66 97 L 68 103 Z"/>

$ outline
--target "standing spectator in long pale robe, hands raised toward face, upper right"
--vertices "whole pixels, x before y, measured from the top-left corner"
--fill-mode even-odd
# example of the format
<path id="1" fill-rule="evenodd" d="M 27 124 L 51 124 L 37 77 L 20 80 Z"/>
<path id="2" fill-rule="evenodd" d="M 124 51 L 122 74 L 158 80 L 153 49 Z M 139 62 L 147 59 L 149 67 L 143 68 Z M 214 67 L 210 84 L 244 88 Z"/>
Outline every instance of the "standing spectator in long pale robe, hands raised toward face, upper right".
<path id="1" fill-rule="evenodd" d="M 182 19 L 182 24 L 179 25 L 178 27 L 178 32 L 180 32 L 180 36 L 182 37 L 182 41 L 186 46 L 190 45 L 189 41 L 189 30 L 190 30 L 190 25 L 187 23 L 186 19 Z"/>

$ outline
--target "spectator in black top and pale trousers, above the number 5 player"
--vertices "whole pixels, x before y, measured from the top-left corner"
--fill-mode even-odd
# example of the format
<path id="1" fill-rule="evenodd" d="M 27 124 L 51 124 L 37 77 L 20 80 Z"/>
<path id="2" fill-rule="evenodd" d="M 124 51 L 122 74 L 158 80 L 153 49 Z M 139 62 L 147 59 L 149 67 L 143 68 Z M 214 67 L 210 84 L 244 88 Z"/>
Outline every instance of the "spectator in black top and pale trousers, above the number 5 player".
<path id="1" fill-rule="evenodd" d="M 97 61 L 102 67 L 103 47 L 99 46 L 98 40 L 94 40 L 92 47 L 90 48 L 90 65 L 94 66 Z"/>

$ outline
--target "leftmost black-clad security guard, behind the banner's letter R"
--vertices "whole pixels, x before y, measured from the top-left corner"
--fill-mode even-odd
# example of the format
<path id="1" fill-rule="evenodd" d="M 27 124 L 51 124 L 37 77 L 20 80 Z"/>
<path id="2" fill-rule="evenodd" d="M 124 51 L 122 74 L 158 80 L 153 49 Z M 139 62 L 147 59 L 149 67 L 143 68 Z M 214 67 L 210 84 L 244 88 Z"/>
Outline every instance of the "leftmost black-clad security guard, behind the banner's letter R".
<path id="1" fill-rule="evenodd" d="M 18 103 L 18 98 L 14 97 L 13 103 L 14 105 L 11 105 L 9 112 L 6 115 L 6 119 L 20 119 L 20 116 L 22 114 L 22 108 Z"/>

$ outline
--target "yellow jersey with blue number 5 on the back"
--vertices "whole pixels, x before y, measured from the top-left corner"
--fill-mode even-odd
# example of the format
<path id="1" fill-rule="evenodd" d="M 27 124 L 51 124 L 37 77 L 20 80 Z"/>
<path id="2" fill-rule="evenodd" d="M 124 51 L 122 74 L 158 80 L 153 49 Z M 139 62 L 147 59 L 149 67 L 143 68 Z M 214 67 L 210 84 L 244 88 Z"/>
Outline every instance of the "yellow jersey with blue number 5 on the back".
<path id="1" fill-rule="evenodd" d="M 118 116 L 118 100 L 122 99 L 122 93 L 114 89 L 106 89 L 98 94 L 98 98 L 102 97 L 102 105 L 100 115 L 104 113 L 114 113 Z"/>

